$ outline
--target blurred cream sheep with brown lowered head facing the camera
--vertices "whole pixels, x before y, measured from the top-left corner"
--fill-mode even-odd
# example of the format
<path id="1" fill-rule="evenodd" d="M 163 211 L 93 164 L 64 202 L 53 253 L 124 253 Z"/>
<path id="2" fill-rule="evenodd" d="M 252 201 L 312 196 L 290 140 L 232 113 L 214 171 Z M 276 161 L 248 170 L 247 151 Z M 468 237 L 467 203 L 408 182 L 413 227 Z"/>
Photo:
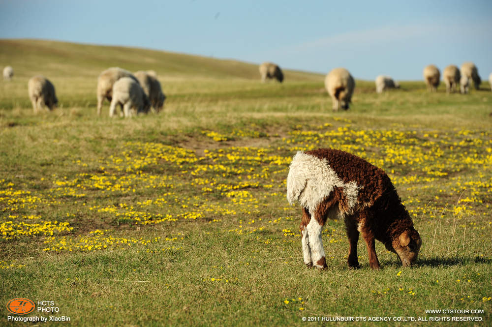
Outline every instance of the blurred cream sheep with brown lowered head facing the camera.
<path id="1" fill-rule="evenodd" d="M 345 68 L 335 68 L 326 75 L 325 88 L 333 100 L 333 110 L 348 110 L 352 102 L 352 94 L 355 89 L 355 81 Z"/>

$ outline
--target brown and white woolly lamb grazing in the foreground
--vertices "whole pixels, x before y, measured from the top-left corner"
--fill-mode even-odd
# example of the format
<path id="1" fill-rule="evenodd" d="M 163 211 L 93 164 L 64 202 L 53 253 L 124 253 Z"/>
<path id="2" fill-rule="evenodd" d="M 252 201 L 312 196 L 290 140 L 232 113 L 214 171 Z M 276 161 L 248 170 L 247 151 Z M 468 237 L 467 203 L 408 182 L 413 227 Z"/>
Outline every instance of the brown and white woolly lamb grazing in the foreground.
<path id="1" fill-rule="evenodd" d="M 403 267 L 417 259 L 422 240 L 386 173 L 366 160 L 336 149 L 298 151 L 287 176 L 287 199 L 303 208 L 304 263 L 326 268 L 321 232 L 327 218 L 344 220 L 349 239 L 348 266 L 359 268 L 359 233 L 369 265 L 379 269 L 374 239 L 398 255 Z"/>

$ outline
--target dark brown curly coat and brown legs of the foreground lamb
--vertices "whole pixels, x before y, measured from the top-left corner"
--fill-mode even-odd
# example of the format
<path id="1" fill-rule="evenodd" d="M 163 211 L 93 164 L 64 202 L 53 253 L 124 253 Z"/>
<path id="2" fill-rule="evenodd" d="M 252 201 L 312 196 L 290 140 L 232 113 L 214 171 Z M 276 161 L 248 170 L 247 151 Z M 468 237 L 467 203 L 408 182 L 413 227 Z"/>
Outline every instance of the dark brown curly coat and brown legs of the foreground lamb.
<path id="1" fill-rule="evenodd" d="M 374 251 L 374 238 L 381 241 L 388 250 L 395 251 L 395 242 L 400 246 L 400 235 L 406 232 L 412 240 L 419 240 L 418 232 L 408 211 L 401 204 L 401 199 L 386 173 L 371 165 L 366 160 L 337 149 L 317 149 L 305 152 L 321 160 L 335 171 L 344 183 L 356 182 L 359 187 L 357 203 L 349 208 L 341 187 L 334 187 L 329 196 L 322 201 L 314 212 L 316 220 L 324 225 L 330 211 L 338 207 L 344 213 L 347 236 L 350 240 L 349 266 L 359 266 L 356 252 L 359 232 L 368 245 L 369 262 L 372 268 L 379 268 Z M 309 223 L 310 214 L 303 210 L 301 229 Z M 371 250 L 372 249 L 372 250 Z M 420 249 L 420 244 L 419 244 Z M 418 253 L 418 250 L 417 250 Z M 355 256 L 354 256 L 355 255 Z M 400 255 L 400 254 L 399 254 Z M 402 259 L 403 260 L 403 259 Z"/>

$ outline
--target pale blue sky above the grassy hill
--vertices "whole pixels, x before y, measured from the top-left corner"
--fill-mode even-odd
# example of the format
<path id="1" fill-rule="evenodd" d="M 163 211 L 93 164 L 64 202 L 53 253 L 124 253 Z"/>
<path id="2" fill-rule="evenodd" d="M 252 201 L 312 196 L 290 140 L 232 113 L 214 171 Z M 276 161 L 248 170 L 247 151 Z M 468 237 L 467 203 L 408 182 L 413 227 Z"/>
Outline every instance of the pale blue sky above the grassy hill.
<path id="1" fill-rule="evenodd" d="M 0 38 L 124 45 L 354 77 L 492 72 L 492 0 L 0 0 Z"/>

